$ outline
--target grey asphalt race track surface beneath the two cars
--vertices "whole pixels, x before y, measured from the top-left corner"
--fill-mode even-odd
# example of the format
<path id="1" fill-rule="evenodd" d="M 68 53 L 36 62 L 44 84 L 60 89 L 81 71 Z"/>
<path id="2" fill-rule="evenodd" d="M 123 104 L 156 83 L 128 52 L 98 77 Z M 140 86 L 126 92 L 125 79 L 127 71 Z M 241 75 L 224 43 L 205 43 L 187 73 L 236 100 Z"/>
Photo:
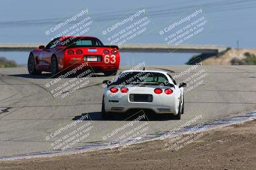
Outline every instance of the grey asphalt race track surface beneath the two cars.
<path id="1" fill-rule="evenodd" d="M 147 69 L 164 70 L 175 75 L 189 67 L 191 66 L 151 66 Z M 129 67 L 122 67 L 122 69 L 127 68 Z M 60 96 L 53 97 L 50 91 L 72 80 L 72 77 L 63 78 L 55 84 L 56 86 L 47 88 L 45 84 L 54 80 L 49 78 L 50 74 L 29 76 L 26 67 L 0 69 L 0 157 L 52 151 L 60 138 L 66 141 L 63 146 L 67 145 L 67 139 L 79 133 L 72 133 L 78 127 L 83 130 L 87 127 L 92 129 L 87 129 L 86 135 L 85 132 L 82 133 L 81 136 L 84 138 L 73 143 L 72 148 L 100 143 L 104 141 L 102 139 L 104 137 L 107 142 L 123 139 L 120 136 L 145 123 L 148 128 L 143 131 L 143 134 L 156 134 L 170 131 L 200 115 L 202 118 L 193 124 L 209 123 L 242 111 L 255 110 L 256 66 L 199 66 L 177 78 L 177 82 L 191 78 L 200 70 L 204 70 L 207 74 L 204 78 L 195 81 L 195 83 L 200 82 L 195 88 L 186 92 L 185 113 L 181 120 L 172 120 L 166 116 L 144 111 L 147 118 L 130 127 L 126 126 L 111 136 L 111 132 L 115 129 L 124 127 L 142 113 L 140 111 L 107 119 L 102 118 L 100 113 L 102 81 L 113 77 L 97 74 L 86 80 L 88 83 L 86 86 L 61 99 Z M 83 78 L 79 80 L 81 79 Z M 86 116 L 87 113 L 89 117 L 84 118 L 76 126 L 68 127 L 60 134 L 51 136 L 56 130 L 67 127 L 82 116 Z M 128 118 L 132 114 L 134 114 L 132 118 Z M 67 134 L 68 137 L 65 138 Z"/>

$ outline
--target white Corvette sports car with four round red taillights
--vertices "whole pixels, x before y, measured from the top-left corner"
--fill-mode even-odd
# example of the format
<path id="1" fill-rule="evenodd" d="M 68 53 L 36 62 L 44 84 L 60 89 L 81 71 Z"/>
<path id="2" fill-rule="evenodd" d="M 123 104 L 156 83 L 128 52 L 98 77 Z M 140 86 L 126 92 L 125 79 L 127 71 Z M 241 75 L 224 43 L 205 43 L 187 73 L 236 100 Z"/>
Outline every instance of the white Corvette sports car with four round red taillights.
<path id="1" fill-rule="evenodd" d="M 124 113 L 128 110 L 147 109 L 155 113 L 170 113 L 180 119 L 184 112 L 184 87 L 177 85 L 164 71 L 126 70 L 106 85 L 102 99 L 102 115 Z"/>

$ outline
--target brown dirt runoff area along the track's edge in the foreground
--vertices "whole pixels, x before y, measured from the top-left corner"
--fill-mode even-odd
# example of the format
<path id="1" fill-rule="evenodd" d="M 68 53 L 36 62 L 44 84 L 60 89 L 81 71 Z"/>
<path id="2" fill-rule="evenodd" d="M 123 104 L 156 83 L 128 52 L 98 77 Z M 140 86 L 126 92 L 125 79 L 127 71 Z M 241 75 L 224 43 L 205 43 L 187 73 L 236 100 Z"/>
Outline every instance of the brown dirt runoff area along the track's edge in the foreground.
<path id="1" fill-rule="evenodd" d="M 256 169 L 256 121 L 182 138 L 42 159 L 0 161 L 0 169 Z M 184 143 L 183 143 L 184 144 Z M 181 143 L 180 143 L 181 145 Z M 175 146 L 175 147 L 174 147 Z"/>

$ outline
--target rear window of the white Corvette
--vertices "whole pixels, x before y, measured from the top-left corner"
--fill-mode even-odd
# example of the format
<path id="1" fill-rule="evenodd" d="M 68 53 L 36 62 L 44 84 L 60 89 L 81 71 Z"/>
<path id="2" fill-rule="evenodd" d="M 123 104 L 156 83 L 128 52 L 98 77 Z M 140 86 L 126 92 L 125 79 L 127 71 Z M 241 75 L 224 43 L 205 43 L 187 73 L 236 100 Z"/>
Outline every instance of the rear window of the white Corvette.
<path id="1" fill-rule="evenodd" d="M 168 78 L 161 73 L 153 72 L 125 72 L 116 76 L 116 84 L 130 83 L 164 83 L 168 82 Z"/>

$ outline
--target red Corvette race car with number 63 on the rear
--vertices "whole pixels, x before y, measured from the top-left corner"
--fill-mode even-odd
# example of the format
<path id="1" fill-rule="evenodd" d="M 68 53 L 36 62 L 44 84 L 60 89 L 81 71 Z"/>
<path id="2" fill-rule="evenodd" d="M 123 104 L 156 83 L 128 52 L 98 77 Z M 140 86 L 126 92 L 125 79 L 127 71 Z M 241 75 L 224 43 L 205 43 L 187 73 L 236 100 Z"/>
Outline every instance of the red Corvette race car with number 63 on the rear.
<path id="1" fill-rule="evenodd" d="M 85 66 L 86 63 L 86 66 Z M 65 36 L 53 39 L 46 46 L 39 46 L 29 53 L 29 74 L 70 71 L 83 64 L 94 73 L 115 75 L 120 64 L 118 46 L 103 45 L 92 36 Z"/>

